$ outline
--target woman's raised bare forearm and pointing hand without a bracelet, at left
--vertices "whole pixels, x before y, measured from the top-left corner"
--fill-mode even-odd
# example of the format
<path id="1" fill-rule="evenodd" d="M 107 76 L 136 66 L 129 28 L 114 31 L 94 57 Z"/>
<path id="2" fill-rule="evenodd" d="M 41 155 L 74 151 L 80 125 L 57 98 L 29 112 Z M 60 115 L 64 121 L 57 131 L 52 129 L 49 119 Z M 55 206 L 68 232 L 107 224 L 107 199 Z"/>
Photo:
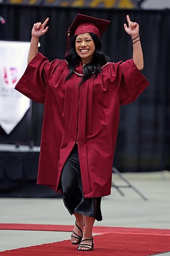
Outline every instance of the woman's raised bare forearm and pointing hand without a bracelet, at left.
<path id="1" fill-rule="evenodd" d="M 48 27 L 45 28 L 49 18 L 46 18 L 44 23 L 41 24 L 41 22 L 37 22 L 34 24 L 33 29 L 32 29 L 32 38 L 31 38 L 31 44 L 30 44 L 30 50 L 29 50 L 29 55 L 28 55 L 28 64 L 30 61 L 37 55 L 38 53 L 38 41 L 39 37 L 41 35 L 44 35 Z"/>

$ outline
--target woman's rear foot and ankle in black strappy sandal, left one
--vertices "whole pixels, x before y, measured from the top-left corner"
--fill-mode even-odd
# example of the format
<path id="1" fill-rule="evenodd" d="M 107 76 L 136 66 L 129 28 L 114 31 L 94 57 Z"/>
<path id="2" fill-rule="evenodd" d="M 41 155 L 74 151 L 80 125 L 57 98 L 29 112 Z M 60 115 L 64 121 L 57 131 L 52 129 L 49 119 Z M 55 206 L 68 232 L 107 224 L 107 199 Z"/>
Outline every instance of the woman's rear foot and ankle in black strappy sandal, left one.
<path id="1" fill-rule="evenodd" d="M 82 216 L 82 220 L 76 220 L 75 227 L 72 230 L 71 233 L 71 244 L 79 244 L 83 237 L 83 226 L 84 226 L 84 220 Z"/>

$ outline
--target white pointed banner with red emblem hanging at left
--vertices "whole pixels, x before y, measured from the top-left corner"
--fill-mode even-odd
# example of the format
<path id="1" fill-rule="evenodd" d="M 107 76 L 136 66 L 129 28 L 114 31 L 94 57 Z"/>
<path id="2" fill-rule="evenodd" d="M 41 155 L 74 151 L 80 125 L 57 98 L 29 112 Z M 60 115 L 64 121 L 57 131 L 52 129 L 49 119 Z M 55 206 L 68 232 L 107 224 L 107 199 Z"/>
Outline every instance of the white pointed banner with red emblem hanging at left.
<path id="1" fill-rule="evenodd" d="M 30 108 L 30 99 L 14 90 L 26 70 L 30 42 L 0 41 L 0 125 L 10 134 Z"/>

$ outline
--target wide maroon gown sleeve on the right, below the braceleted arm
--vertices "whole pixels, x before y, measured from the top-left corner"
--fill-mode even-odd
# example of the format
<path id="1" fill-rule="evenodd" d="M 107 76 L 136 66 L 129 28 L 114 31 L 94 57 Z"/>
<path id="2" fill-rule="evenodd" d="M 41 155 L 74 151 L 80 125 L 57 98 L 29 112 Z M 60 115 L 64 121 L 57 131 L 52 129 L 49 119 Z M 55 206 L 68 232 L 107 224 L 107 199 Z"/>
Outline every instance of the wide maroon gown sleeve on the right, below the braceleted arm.
<path id="1" fill-rule="evenodd" d="M 119 62 L 119 100 L 121 105 L 129 104 L 149 86 L 149 81 L 141 74 L 133 59 Z"/>

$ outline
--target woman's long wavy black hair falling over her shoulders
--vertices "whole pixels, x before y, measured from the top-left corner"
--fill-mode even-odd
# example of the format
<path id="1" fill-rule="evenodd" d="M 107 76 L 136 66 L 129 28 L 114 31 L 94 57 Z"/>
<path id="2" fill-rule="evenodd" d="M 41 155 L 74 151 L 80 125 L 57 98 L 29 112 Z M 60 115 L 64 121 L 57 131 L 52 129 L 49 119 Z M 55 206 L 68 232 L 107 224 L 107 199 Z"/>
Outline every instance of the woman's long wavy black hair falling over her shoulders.
<path id="1" fill-rule="evenodd" d="M 107 55 L 101 52 L 102 43 L 99 37 L 94 33 L 90 33 L 90 35 L 94 41 L 95 51 L 92 61 L 83 67 L 84 76 L 80 84 L 86 81 L 93 73 L 95 73 L 94 78 L 96 78 L 101 72 L 101 67 L 105 65 L 110 59 Z M 67 75 L 65 80 L 68 80 L 71 77 L 71 75 L 74 73 L 76 66 L 78 66 L 81 60 L 80 56 L 76 52 L 76 37 L 77 35 L 75 35 L 72 39 L 69 54 L 65 57 L 65 60 L 68 62 L 69 68 L 69 74 Z"/>

